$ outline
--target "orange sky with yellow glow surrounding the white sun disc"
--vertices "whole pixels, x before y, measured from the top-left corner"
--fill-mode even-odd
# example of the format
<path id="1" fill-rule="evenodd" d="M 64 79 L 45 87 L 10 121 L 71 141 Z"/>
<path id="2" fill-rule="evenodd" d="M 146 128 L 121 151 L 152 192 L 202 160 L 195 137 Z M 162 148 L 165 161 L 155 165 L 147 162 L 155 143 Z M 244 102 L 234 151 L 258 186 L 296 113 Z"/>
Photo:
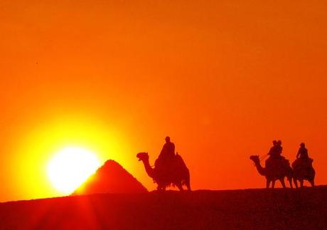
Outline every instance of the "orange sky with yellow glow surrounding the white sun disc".
<path id="1" fill-rule="evenodd" d="M 264 187 L 249 160 L 306 142 L 327 182 L 325 1 L 0 3 L 0 202 L 59 195 L 44 175 L 68 145 L 136 160 L 164 137 L 193 189 Z"/>

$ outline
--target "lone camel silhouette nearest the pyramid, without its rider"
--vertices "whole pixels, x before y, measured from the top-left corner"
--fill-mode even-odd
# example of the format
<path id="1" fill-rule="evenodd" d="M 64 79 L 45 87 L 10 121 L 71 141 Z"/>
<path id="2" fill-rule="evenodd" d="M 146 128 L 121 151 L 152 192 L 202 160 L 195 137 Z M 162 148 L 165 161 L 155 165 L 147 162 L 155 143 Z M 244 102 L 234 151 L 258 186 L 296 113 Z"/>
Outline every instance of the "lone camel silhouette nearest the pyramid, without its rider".
<path id="1" fill-rule="evenodd" d="M 151 167 L 147 152 L 139 152 L 136 157 L 143 162 L 149 177 L 158 184 L 157 189 L 159 191 L 166 190 L 166 187 L 171 186 L 171 184 L 176 185 L 180 191 L 183 191 L 183 185 L 186 185 L 188 191 L 191 191 L 190 172 L 180 155 L 176 155 L 173 162 L 171 162 L 171 168 L 167 170 Z"/>

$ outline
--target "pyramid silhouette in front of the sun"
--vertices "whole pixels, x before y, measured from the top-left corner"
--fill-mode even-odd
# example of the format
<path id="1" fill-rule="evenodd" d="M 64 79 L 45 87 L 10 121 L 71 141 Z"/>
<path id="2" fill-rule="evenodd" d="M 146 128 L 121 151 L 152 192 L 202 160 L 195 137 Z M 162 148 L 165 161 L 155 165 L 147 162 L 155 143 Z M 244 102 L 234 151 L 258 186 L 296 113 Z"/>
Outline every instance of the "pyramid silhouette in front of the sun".
<path id="1" fill-rule="evenodd" d="M 100 193 L 144 193 L 148 190 L 114 160 L 108 160 L 72 195 Z"/>

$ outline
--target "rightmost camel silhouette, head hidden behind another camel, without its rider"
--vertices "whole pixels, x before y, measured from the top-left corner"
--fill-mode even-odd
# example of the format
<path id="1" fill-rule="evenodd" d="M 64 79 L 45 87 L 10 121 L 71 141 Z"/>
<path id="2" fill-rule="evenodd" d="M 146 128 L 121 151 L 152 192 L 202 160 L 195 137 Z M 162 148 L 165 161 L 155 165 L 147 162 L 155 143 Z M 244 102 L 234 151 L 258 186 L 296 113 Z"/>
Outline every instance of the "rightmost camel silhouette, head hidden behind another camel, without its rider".
<path id="1" fill-rule="evenodd" d="M 293 167 L 293 180 L 295 187 L 298 187 L 297 182 L 300 182 L 300 187 L 303 187 L 304 180 L 307 180 L 310 182 L 311 187 L 314 187 L 314 177 L 316 175 L 316 171 L 312 167 L 313 160 L 311 158 L 308 158 L 307 162 L 304 162 L 304 164 L 296 164 L 301 159 L 297 159 L 292 163 Z"/>

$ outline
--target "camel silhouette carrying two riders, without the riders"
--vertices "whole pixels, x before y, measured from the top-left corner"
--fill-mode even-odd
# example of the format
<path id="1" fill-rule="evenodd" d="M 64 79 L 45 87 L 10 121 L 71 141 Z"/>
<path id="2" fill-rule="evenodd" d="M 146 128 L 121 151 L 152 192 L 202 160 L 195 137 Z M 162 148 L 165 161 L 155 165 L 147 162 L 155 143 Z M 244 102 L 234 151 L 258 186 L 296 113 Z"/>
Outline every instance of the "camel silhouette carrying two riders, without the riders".
<path id="1" fill-rule="evenodd" d="M 289 185 L 292 188 L 292 174 L 293 170 L 291 166 L 289 165 L 288 160 L 278 160 L 280 163 L 278 165 L 272 165 L 272 167 L 262 167 L 260 164 L 259 156 L 258 155 L 252 155 L 250 156 L 250 160 L 254 162 L 255 167 L 257 168 L 257 171 L 260 175 L 266 177 L 266 187 L 269 188 L 270 182 L 272 182 L 272 188 L 274 188 L 276 180 L 279 180 L 281 182 L 282 187 L 285 188 L 285 182 L 284 177 L 287 177 L 289 180 Z"/>

